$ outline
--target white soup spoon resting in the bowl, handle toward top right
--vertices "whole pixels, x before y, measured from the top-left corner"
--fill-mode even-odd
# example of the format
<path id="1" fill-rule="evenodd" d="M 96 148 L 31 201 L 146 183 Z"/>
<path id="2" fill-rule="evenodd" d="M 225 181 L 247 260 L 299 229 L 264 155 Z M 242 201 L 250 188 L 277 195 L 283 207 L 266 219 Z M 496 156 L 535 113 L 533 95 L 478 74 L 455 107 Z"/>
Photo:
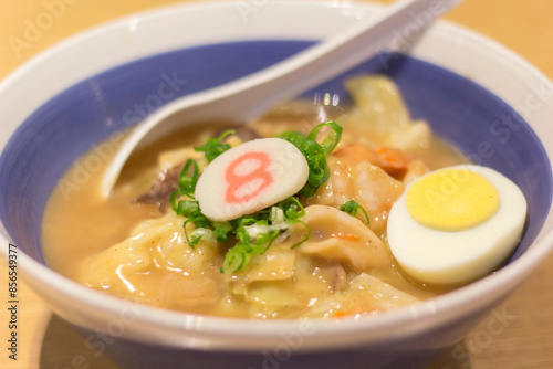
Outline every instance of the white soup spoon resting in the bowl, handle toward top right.
<path id="1" fill-rule="evenodd" d="M 394 38 L 411 42 L 436 18 L 462 0 L 398 0 L 377 17 L 361 21 L 280 63 L 239 80 L 177 98 L 140 123 L 126 138 L 104 172 L 107 197 L 131 154 L 142 144 L 186 124 L 226 120 L 244 123 L 271 107 L 346 72 L 386 50 Z M 309 21 L 309 20 L 307 20 Z"/>

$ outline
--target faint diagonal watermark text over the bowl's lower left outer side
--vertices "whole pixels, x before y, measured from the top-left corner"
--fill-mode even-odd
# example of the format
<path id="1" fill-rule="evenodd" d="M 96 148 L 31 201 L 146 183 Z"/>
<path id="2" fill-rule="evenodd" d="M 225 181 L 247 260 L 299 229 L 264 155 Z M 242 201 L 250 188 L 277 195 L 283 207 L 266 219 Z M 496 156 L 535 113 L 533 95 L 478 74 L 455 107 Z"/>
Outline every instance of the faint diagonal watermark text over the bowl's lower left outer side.
<path id="1" fill-rule="evenodd" d="M 133 325 L 140 316 L 134 302 L 125 302 L 125 306 L 119 315 L 109 319 L 105 327 L 96 329 L 84 338 L 84 347 L 92 350 L 94 357 L 101 357 L 105 354 L 107 347 L 113 345 L 118 337 L 122 337 L 127 327 Z M 90 357 L 88 357 L 90 358 Z M 71 361 L 61 368 L 54 369 L 91 369 L 92 365 L 84 355 L 75 355 Z"/>

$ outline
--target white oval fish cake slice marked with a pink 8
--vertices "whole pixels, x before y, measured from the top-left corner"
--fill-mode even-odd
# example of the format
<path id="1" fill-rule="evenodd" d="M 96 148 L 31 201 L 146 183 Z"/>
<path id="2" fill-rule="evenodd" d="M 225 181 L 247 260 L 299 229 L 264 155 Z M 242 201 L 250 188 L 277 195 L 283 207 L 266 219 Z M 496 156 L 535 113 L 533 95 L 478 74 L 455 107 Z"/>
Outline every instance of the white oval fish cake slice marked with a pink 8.
<path id="1" fill-rule="evenodd" d="M 209 164 L 195 196 L 206 217 L 226 221 L 296 193 L 307 176 L 307 161 L 294 145 L 281 138 L 255 139 L 231 148 Z"/>

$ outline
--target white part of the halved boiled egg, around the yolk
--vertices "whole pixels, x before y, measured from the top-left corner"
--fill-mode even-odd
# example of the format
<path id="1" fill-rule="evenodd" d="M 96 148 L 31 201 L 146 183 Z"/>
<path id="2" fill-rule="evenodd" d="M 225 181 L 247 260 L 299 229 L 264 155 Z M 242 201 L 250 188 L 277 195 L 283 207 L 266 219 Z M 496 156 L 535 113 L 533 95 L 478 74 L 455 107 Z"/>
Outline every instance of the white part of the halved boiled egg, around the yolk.
<path id="1" fill-rule="evenodd" d="M 524 194 L 495 170 L 476 165 L 459 168 L 484 177 L 499 193 L 499 209 L 488 221 L 472 229 L 448 232 L 427 228 L 414 220 L 403 192 L 389 212 L 387 234 L 392 253 L 409 275 L 434 284 L 466 283 L 494 268 L 517 247 L 526 219 Z M 432 173 L 439 171 L 436 170 Z"/>

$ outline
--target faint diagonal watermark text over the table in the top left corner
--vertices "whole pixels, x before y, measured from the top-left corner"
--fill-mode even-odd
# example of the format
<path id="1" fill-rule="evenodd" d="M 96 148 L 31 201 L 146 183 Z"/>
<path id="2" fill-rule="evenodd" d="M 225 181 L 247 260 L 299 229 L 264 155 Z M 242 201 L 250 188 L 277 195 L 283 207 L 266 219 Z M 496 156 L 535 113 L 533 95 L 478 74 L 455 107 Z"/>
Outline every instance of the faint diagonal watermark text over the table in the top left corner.
<path id="1" fill-rule="evenodd" d="M 22 57 L 22 53 L 32 49 L 41 39 L 44 32 L 48 32 L 55 22 L 59 21 L 67 8 L 74 6 L 79 0 L 43 0 L 42 11 L 31 18 L 25 18 L 22 23 L 22 32 L 19 35 L 10 35 L 8 44 L 15 57 Z"/>

